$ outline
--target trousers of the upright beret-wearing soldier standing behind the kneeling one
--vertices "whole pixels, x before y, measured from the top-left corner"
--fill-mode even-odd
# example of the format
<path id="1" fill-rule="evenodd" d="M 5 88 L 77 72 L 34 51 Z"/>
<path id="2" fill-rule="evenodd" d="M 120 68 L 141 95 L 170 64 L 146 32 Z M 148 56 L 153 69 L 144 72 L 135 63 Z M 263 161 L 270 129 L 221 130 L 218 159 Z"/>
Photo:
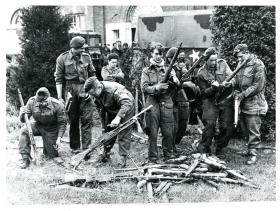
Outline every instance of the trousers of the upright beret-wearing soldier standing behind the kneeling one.
<path id="1" fill-rule="evenodd" d="M 83 84 L 66 84 L 65 92 L 72 94 L 72 104 L 68 112 L 70 148 L 87 149 L 91 144 L 93 126 L 93 100 L 85 98 Z M 65 96 L 67 96 L 65 94 Z"/>

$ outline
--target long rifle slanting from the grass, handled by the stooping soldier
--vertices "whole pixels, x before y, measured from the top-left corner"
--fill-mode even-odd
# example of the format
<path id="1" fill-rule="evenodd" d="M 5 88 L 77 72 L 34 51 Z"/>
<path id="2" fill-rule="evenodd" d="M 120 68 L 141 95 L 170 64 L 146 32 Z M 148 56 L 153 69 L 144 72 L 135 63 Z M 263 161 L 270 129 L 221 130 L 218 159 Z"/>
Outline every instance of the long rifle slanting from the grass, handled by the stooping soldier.
<path id="1" fill-rule="evenodd" d="M 130 125 L 134 124 L 137 119 L 138 116 L 140 116 L 141 114 L 143 114 L 144 112 L 146 112 L 147 110 L 151 109 L 153 106 L 150 105 L 147 108 L 143 109 L 140 113 L 136 114 L 135 116 L 133 116 L 132 118 L 130 118 L 129 120 L 127 120 L 126 122 L 124 122 L 123 124 L 119 125 L 117 128 L 115 128 L 112 131 L 109 131 L 103 135 L 101 135 L 97 141 L 95 141 L 95 143 L 91 144 L 89 146 L 89 148 L 77 155 L 74 155 L 71 158 L 71 164 L 74 166 L 74 169 L 84 160 L 84 158 L 89 155 L 93 150 L 95 150 L 96 148 L 102 146 L 102 145 L 106 145 L 113 137 L 117 136 L 121 131 L 123 131 L 124 129 L 126 129 L 127 127 L 129 127 Z"/>

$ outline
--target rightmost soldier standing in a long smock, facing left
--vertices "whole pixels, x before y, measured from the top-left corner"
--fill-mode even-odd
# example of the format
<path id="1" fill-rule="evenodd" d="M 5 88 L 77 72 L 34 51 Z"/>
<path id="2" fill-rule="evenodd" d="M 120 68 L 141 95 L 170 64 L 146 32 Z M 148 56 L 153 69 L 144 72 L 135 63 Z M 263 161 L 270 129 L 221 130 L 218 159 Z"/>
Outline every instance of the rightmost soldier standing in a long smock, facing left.
<path id="1" fill-rule="evenodd" d="M 257 162 L 257 148 L 261 143 L 261 117 L 268 110 L 265 100 L 266 68 L 256 55 L 250 53 L 246 44 L 239 44 L 234 48 L 234 56 L 239 64 L 246 61 L 232 82 L 236 97 L 240 103 L 240 126 L 248 143 L 246 155 L 249 156 L 248 165 Z"/>

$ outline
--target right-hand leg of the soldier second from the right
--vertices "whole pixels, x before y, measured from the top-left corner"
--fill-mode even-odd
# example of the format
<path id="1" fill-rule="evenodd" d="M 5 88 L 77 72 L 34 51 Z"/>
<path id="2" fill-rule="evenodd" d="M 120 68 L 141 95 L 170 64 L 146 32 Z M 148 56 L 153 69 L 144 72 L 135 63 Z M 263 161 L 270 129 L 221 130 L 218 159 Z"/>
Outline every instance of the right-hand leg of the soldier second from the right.
<path id="1" fill-rule="evenodd" d="M 233 112 L 232 106 L 224 106 L 219 109 L 220 134 L 215 137 L 217 141 L 217 151 L 226 147 L 232 137 L 234 118 Z"/>

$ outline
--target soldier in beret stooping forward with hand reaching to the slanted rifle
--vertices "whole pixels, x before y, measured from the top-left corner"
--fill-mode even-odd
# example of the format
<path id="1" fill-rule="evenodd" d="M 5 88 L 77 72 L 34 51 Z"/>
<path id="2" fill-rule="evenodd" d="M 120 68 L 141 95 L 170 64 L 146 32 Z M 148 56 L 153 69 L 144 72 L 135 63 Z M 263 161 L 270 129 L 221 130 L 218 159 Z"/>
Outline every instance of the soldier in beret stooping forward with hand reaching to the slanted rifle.
<path id="1" fill-rule="evenodd" d="M 102 128 L 108 132 L 120 123 L 129 120 L 135 114 L 134 98 L 132 94 L 121 84 L 110 81 L 99 81 L 96 77 L 89 78 L 85 83 L 85 92 L 88 92 L 95 99 L 99 111 Z M 116 140 L 119 143 L 119 155 L 121 167 L 126 166 L 127 153 L 130 150 L 132 126 L 121 131 L 117 137 L 111 139 L 110 143 L 104 146 L 104 153 L 100 161 L 107 162 L 110 151 Z"/>

